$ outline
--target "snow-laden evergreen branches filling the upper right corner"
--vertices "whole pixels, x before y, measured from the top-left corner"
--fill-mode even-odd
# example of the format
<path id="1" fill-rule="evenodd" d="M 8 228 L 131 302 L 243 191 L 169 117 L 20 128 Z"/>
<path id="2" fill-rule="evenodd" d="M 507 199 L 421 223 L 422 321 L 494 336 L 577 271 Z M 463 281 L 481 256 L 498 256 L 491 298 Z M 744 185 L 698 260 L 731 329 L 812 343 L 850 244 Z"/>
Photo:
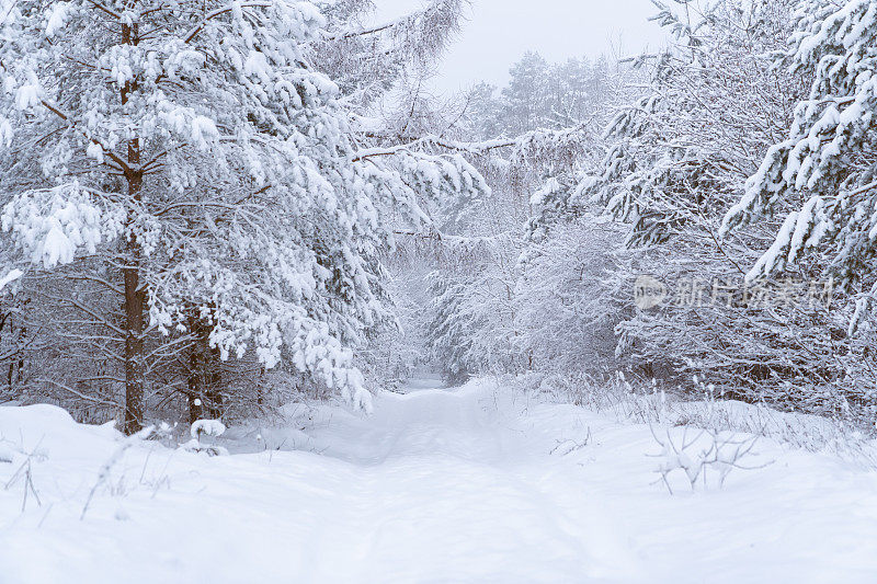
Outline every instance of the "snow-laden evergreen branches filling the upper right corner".
<path id="1" fill-rule="evenodd" d="M 875 284 L 875 35 L 877 3 L 869 0 L 809 0 L 796 12 L 791 47 L 776 66 L 807 79 L 810 91 L 797 104 L 788 135 L 770 148 L 721 226 L 728 233 L 784 206 L 797 208 L 750 279 L 816 251 L 831 257 L 830 272 L 847 289 Z M 862 295 L 861 308 L 875 291 Z"/>

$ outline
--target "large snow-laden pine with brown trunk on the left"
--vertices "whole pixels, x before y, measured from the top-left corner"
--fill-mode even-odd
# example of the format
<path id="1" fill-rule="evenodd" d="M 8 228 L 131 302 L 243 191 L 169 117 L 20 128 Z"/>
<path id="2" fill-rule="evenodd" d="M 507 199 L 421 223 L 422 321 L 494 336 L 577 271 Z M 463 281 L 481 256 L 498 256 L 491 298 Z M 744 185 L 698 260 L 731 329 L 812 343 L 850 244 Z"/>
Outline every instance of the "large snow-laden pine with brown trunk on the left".
<path id="1" fill-rule="evenodd" d="M 330 36 L 310 2 L 2 14 L 3 228 L 31 277 L 77 264 L 117 296 L 118 321 L 70 301 L 122 348 L 126 432 L 146 414 L 147 337 L 191 333 L 193 311 L 223 358 L 285 358 L 365 404 L 350 347 L 387 314 L 379 211 L 422 220 L 413 191 L 482 188 L 470 167 L 409 157 L 403 181 L 357 151 L 310 65 Z"/>

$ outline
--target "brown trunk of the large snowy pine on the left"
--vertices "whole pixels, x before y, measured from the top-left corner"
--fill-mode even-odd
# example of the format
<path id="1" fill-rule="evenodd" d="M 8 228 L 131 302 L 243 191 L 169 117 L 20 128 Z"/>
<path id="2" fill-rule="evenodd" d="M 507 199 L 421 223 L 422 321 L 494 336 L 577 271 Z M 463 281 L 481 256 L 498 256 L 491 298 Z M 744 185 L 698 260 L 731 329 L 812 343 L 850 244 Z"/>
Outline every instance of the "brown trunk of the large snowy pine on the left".
<path id="1" fill-rule="evenodd" d="M 137 24 L 122 25 L 123 41 L 137 44 Z M 136 80 L 125 83 L 122 89 L 122 103 L 128 102 L 130 92 L 137 89 Z M 125 280 L 125 434 L 135 434 L 144 427 L 146 398 L 144 394 L 146 364 L 144 363 L 144 297 L 140 289 L 143 250 L 140 242 L 132 232 L 137 220 L 139 203 L 143 197 L 143 171 L 140 170 L 140 142 L 135 137 L 128 141 L 128 169 L 125 180 L 128 183 L 128 216 L 125 240 L 125 260 L 122 274 Z"/>

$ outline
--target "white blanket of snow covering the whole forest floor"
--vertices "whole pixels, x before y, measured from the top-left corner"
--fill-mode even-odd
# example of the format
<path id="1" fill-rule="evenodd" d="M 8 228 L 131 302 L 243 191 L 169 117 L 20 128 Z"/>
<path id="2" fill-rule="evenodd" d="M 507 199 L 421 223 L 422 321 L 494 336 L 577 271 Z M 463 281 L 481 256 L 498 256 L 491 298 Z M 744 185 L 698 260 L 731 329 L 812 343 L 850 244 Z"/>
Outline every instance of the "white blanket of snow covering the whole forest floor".
<path id="1" fill-rule="evenodd" d="M 221 457 L 0 406 L 0 582 L 877 581 L 873 470 L 762 439 L 761 468 L 671 495 L 648 426 L 412 389 L 230 428 L 262 451 Z"/>

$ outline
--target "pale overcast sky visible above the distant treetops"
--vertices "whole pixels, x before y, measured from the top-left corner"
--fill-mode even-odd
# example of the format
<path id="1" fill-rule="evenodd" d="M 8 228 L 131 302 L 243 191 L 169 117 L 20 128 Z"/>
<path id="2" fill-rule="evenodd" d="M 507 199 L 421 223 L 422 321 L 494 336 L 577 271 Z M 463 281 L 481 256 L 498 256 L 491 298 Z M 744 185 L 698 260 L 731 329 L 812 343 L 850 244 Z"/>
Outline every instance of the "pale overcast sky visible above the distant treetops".
<path id="1" fill-rule="evenodd" d="M 376 0 L 380 20 L 423 5 L 422 0 Z M 650 0 L 474 0 L 459 38 L 447 51 L 434 84 L 440 92 L 486 80 L 502 84 L 526 50 L 551 61 L 596 57 L 620 44 L 626 54 L 661 44 L 648 18 Z"/>

